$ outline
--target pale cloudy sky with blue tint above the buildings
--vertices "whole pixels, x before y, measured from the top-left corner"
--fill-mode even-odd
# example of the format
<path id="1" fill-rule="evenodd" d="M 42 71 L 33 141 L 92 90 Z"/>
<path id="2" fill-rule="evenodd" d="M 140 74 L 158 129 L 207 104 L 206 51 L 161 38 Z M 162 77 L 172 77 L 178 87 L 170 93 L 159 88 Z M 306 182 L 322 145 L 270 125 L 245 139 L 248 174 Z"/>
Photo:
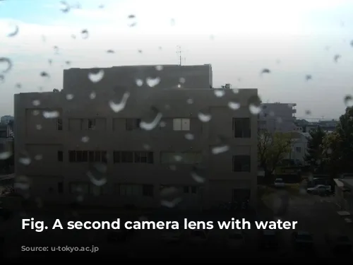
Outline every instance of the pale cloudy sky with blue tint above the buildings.
<path id="1" fill-rule="evenodd" d="M 13 114 L 14 93 L 61 89 L 63 69 L 178 64 L 177 45 L 183 64 L 212 64 L 215 87 L 258 88 L 263 102 L 296 102 L 297 117 L 337 118 L 353 95 L 353 1 L 66 2 L 0 1 L 0 57 L 13 66 L 0 114 Z"/>

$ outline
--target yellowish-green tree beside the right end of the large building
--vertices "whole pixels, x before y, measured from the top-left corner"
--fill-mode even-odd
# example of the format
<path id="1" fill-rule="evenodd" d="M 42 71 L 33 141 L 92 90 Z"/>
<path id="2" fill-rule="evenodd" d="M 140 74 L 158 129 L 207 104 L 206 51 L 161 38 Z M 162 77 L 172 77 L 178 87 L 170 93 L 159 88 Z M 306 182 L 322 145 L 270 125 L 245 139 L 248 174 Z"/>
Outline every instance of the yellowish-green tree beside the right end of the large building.
<path id="1" fill-rule="evenodd" d="M 265 172 L 265 180 L 271 179 L 273 171 L 291 149 L 292 134 L 258 132 L 258 161 Z"/>

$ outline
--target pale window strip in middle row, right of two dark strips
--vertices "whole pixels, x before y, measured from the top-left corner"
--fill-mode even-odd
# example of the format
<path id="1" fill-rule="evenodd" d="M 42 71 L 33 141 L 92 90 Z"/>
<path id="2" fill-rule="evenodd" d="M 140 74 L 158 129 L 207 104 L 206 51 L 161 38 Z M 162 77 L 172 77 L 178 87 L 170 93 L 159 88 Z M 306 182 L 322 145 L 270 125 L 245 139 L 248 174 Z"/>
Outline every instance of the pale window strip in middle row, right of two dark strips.
<path id="1" fill-rule="evenodd" d="M 161 152 L 160 163 L 162 164 L 198 164 L 202 162 L 201 152 Z"/>

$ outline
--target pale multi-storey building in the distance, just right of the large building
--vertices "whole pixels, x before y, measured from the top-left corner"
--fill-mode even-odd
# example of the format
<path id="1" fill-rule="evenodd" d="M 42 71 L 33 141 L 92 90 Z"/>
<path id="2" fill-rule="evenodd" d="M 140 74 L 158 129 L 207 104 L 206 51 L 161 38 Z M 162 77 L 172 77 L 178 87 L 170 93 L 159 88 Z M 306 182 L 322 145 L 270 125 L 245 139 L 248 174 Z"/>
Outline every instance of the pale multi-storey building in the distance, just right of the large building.
<path id="1" fill-rule="evenodd" d="M 295 113 L 297 106 L 295 103 L 262 103 L 262 111 L 258 114 L 258 127 L 269 132 L 289 132 L 300 131 L 294 124 L 296 121 Z"/>

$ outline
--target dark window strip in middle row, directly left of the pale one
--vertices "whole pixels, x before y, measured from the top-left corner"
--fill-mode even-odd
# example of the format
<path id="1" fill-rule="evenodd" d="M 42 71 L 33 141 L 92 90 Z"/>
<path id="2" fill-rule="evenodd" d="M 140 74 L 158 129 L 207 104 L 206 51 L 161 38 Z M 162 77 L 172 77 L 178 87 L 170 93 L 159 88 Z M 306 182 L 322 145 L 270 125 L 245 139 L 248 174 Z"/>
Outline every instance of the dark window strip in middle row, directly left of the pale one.
<path id="1" fill-rule="evenodd" d="M 114 163 L 147 163 L 153 164 L 153 152 L 147 151 L 114 151 Z"/>

